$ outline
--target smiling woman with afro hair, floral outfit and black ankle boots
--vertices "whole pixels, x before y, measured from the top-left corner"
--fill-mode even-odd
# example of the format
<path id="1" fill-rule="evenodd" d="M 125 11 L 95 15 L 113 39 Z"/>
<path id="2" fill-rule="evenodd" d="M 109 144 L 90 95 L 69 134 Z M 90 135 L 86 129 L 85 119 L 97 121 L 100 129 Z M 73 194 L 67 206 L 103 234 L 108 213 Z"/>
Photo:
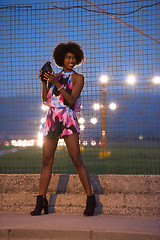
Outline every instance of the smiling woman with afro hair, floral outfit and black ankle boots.
<path id="1" fill-rule="evenodd" d="M 84 76 L 75 72 L 75 66 L 84 62 L 84 53 L 80 45 L 74 42 L 60 43 L 53 51 L 53 59 L 63 70 L 58 73 L 45 73 L 42 81 L 42 100 L 50 108 L 42 125 L 43 165 L 40 175 L 39 195 L 32 216 L 40 215 L 42 209 L 48 213 L 46 193 L 52 174 L 54 154 L 58 139 L 64 138 L 69 155 L 77 169 L 79 178 L 87 194 L 85 216 L 92 216 L 96 206 L 95 196 L 87 169 L 82 161 L 79 147 L 79 125 L 76 111 L 80 111 L 80 94 L 84 87 Z M 42 70 L 40 76 L 42 77 Z M 41 79 L 42 80 L 42 79 Z M 47 84 L 48 82 L 48 84 Z"/>

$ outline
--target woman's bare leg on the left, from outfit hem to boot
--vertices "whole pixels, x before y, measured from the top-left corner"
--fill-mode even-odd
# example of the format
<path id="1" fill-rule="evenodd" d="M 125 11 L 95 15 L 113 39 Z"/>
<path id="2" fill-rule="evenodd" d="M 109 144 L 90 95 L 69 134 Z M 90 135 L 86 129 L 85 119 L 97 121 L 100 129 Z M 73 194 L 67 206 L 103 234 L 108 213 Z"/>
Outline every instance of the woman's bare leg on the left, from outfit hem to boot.
<path id="1" fill-rule="evenodd" d="M 43 138 L 43 164 L 39 182 L 39 195 L 46 195 L 47 193 L 57 144 L 58 139 L 47 137 Z"/>

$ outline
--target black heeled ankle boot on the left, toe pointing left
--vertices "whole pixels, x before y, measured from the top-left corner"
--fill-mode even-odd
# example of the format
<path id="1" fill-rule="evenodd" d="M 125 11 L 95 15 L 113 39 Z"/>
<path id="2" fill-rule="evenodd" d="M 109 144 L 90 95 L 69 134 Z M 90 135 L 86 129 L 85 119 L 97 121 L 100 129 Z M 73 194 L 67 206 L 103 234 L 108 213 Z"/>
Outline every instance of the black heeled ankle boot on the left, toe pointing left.
<path id="1" fill-rule="evenodd" d="M 32 212 L 30 212 L 30 214 L 32 216 L 41 215 L 42 209 L 44 209 L 45 214 L 48 214 L 48 201 L 46 196 L 38 195 L 36 207 Z"/>

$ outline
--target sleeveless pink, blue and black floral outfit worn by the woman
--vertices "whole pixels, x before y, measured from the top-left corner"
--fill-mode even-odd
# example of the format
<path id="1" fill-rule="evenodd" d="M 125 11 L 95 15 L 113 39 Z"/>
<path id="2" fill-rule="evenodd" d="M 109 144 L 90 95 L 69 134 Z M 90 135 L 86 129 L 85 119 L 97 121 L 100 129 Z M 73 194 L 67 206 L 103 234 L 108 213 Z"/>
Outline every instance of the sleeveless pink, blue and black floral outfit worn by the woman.
<path id="1" fill-rule="evenodd" d="M 72 72 L 61 72 L 58 80 L 64 89 L 72 93 Z M 43 136 L 50 138 L 62 138 L 73 133 L 80 133 L 76 112 L 81 110 L 81 98 L 79 97 L 74 106 L 69 106 L 62 94 L 52 85 L 47 94 L 47 100 L 44 102 L 49 106 L 45 121 L 41 126 Z"/>

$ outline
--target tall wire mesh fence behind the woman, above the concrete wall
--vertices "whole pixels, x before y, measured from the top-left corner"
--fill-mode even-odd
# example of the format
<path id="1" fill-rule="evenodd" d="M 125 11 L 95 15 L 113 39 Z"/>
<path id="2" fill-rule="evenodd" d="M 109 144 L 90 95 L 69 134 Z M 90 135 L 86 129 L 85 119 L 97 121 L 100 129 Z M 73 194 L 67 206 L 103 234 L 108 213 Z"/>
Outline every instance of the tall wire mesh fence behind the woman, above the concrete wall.
<path id="1" fill-rule="evenodd" d="M 0 173 L 40 172 L 39 69 L 67 41 L 85 53 L 76 70 L 85 76 L 78 118 L 89 173 L 160 173 L 159 11 L 153 0 L 0 6 Z M 63 140 L 53 172 L 75 172 Z"/>

